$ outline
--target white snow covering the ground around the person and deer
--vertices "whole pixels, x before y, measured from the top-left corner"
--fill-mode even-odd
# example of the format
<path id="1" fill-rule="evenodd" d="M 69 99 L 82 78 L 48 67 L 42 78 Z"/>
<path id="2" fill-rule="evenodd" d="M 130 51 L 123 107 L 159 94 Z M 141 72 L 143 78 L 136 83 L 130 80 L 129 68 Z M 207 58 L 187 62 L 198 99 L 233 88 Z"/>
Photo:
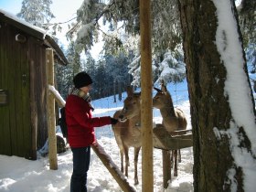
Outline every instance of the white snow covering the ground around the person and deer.
<path id="1" fill-rule="evenodd" d="M 50 91 L 55 91 L 51 86 Z M 174 104 L 182 109 L 188 120 L 187 129 L 191 129 L 187 82 L 178 85 L 168 84 L 167 89 L 173 95 Z M 139 91 L 139 90 L 138 90 Z M 155 92 L 153 93 L 155 95 Z M 126 93 L 123 93 L 123 98 Z M 111 115 L 123 107 L 123 101 L 113 103 L 113 97 L 103 98 L 92 103 L 95 107 L 94 116 Z M 158 110 L 154 110 L 155 123 L 161 123 L 162 118 Z M 58 127 L 58 130 L 59 127 Z M 105 153 L 112 158 L 112 162 L 120 167 L 119 149 L 115 142 L 111 126 L 95 129 L 98 143 Z M 133 149 L 130 149 L 130 166 L 128 181 L 133 185 Z M 182 162 L 178 165 L 178 176 L 173 176 L 165 192 L 193 191 L 193 149 L 188 147 L 181 150 Z M 142 158 L 138 162 L 138 176 L 140 184 L 135 186 L 142 191 Z M 162 152 L 154 149 L 154 191 L 163 189 Z M 58 155 L 58 170 L 50 170 L 48 156 L 38 155 L 36 161 L 30 161 L 17 156 L 0 155 L 0 191 L 20 192 L 68 192 L 69 180 L 72 174 L 72 153 L 68 150 Z M 107 168 L 93 150 L 91 150 L 91 165 L 88 174 L 88 189 L 91 192 L 120 192 L 122 189 L 108 172 Z"/>

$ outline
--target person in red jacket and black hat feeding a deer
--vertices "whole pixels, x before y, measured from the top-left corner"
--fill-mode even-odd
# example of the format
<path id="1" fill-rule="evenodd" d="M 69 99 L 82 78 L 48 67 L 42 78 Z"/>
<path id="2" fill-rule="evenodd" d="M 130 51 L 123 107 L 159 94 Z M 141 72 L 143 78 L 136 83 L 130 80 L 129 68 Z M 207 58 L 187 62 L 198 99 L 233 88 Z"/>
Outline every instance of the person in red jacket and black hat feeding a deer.
<path id="1" fill-rule="evenodd" d="M 73 173 L 70 192 L 87 191 L 87 172 L 90 165 L 91 144 L 96 141 L 94 127 L 115 124 L 118 120 L 110 116 L 92 117 L 91 77 L 82 71 L 73 79 L 74 87 L 66 101 L 66 122 L 69 146 L 73 155 Z"/>

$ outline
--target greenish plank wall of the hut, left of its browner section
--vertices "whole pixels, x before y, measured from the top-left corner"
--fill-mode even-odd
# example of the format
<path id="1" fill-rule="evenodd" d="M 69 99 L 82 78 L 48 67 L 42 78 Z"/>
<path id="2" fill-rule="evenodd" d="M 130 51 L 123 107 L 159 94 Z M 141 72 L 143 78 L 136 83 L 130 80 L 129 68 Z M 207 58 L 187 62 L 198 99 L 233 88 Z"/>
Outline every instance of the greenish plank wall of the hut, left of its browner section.
<path id="1" fill-rule="evenodd" d="M 0 153 L 25 156 L 31 154 L 31 126 L 29 104 L 29 66 L 27 43 L 16 41 L 15 27 L 1 22 L 0 28 L 0 89 L 8 91 L 8 103 L 0 107 Z"/>

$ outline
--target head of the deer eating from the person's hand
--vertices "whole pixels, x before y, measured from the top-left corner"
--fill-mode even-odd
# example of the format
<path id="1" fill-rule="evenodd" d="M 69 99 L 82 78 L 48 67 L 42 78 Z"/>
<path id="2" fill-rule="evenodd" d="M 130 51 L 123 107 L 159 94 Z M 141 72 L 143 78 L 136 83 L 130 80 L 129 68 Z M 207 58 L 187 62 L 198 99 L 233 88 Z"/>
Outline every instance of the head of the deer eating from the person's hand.
<path id="1" fill-rule="evenodd" d="M 127 87 L 127 98 L 123 101 L 123 110 L 119 115 L 119 121 L 125 122 L 141 112 L 141 92 L 133 92 L 132 87 Z"/>

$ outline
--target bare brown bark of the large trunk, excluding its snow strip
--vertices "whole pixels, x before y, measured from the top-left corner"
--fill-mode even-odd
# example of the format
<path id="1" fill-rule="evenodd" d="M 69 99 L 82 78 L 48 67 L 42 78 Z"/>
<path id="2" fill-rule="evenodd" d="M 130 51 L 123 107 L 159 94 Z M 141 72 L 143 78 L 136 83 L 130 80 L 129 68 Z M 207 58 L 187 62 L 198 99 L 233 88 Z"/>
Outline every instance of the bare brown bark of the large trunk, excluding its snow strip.
<path id="1" fill-rule="evenodd" d="M 231 168 L 235 170 L 238 191 L 244 191 L 243 173 L 234 164 L 227 134 L 221 134 L 221 139 L 218 139 L 214 133 L 214 128 L 228 130 L 233 119 L 224 92 L 227 70 L 215 43 L 216 7 L 211 0 L 178 2 L 194 138 L 194 191 L 230 191 L 227 175 Z M 242 127 L 239 130 L 245 138 L 241 146 L 249 149 L 248 137 Z"/>

